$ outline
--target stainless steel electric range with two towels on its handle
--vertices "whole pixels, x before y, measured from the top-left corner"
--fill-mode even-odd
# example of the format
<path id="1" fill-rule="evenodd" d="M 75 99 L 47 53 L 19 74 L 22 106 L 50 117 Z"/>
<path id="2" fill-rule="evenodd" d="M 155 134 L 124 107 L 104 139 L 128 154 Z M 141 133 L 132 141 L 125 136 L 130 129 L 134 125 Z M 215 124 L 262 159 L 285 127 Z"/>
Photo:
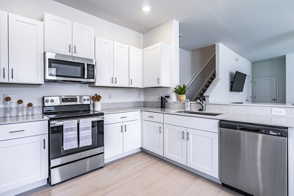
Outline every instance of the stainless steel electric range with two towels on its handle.
<path id="1" fill-rule="evenodd" d="M 104 114 L 90 96 L 45 96 L 51 185 L 104 166 Z"/>

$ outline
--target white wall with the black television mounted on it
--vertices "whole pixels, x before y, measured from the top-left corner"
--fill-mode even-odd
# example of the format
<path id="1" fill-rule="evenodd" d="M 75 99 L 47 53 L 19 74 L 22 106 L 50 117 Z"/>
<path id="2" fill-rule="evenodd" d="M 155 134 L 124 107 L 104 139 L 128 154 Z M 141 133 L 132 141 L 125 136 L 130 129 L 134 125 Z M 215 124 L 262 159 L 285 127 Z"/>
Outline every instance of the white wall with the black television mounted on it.
<path id="1" fill-rule="evenodd" d="M 236 61 L 236 57 L 239 61 Z M 246 102 L 243 92 L 231 92 L 230 85 L 236 71 L 251 76 L 251 62 L 221 43 L 216 44 L 216 77 L 219 83 L 210 94 L 210 102 Z"/>

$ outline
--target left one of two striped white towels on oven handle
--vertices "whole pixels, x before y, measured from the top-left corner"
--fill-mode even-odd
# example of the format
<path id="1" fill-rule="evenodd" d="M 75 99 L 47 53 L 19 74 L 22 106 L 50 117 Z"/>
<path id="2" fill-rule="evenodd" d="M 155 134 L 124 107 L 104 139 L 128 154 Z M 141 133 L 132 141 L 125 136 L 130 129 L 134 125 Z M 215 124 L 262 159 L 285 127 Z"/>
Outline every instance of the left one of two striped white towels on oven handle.
<path id="1" fill-rule="evenodd" d="M 77 120 L 63 122 L 63 149 L 77 148 Z"/>

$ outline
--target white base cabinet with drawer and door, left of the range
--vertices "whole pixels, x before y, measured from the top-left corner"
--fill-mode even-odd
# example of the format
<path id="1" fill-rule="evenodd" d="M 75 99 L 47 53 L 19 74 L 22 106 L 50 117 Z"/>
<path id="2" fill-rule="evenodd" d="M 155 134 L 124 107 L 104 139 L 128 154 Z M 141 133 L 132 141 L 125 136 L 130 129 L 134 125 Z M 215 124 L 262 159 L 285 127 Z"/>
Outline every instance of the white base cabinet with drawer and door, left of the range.
<path id="1" fill-rule="evenodd" d="M 0 195 L 45 181 L 48 171 L 48 121 L 1 125 Z M 42 184 L 41 184 L 42 185 Z M 38 186 L 41 186 L 40 184 Z"/>

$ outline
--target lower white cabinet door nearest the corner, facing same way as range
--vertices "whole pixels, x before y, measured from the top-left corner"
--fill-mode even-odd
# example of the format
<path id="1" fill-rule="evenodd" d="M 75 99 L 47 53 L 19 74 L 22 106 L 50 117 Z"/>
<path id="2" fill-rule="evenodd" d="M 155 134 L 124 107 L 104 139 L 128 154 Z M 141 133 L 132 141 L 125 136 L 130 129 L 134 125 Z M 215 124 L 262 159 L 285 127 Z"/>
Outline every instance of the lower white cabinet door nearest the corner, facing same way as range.
<path id="1" fill-rule="evenodd" d="M 123 152 L 141 147 L 141 121 L 134 120 L 123 123 Z"/>

